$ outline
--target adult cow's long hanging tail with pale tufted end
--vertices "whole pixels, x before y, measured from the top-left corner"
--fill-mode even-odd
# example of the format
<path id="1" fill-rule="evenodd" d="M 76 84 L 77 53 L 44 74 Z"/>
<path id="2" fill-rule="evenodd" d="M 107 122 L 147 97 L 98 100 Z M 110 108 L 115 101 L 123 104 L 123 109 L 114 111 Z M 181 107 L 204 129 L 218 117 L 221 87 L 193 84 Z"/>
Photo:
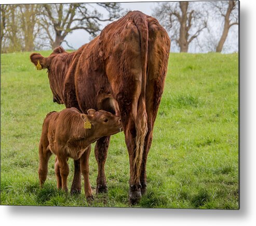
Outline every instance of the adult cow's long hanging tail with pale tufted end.
<path id="1" fill-rule="evenodd" d="M 147 25 L 147 18 L 145 14 L 138 12 L 134 15 L 134 23 L 138 28 L 140 34 L 141 43 L 141 55 L 142 55 L 142 80 L 141 80 L 141 94 L 138 100 L 137 116 L 135 118 L 136 128 L 136 147 L 134 158 L 134 183 L 140 182 L 140 167 L 143 156 L 144 140 L 147 133 L 147 114 L 146 114 L 146 68 L 147 68 L 147 47 L 149 40 L 149 29 Z"/>

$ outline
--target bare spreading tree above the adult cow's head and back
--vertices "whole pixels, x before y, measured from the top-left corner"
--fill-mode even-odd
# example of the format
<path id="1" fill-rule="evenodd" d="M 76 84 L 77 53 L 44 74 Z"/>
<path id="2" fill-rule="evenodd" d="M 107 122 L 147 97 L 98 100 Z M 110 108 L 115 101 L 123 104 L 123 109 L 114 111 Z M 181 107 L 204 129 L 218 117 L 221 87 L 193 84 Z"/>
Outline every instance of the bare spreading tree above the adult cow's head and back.
<path id="1" fill-rule="evenodd" d="M 84 29 L 96 36 L 100 31 L 100 22 L 118 18 L 119 3 L 97 3 L 97 6 L 108 13 L 106 18 L 96 9 L 95 4 L 43 4 L 39 23 L 46 32 L 50 47 L 53 49 L 66 42 L 66 36 L 76 29 Z"/>

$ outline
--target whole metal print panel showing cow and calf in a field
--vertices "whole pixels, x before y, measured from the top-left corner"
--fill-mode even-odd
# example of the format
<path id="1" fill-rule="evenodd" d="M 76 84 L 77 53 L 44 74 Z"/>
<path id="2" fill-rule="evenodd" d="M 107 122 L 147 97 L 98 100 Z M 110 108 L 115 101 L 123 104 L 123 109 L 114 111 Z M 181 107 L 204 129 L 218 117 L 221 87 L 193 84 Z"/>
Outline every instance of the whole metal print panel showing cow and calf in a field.
<path id="1" fill-rule="evenodd" d="M 238 15 L 1 5 L 1 205 L 239 209 Z"/>

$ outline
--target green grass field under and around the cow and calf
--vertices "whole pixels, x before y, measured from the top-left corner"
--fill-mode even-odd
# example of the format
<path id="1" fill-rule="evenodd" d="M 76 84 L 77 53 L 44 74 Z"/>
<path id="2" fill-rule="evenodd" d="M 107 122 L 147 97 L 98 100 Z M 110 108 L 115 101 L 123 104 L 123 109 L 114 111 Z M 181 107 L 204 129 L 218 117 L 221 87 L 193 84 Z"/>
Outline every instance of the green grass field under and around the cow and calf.
<path id="1" fill-rule="evenodd" d="M 42 51 L 48 56 L 50 51 Z M 107 194 L 87 203 L 58 191 L 54 157 L 39 189 L 38 142 L 52 102 L 46 70 L 30 53 L 1 55 L 1 204 L 129 207 L 124 133 L 111 138 Z M 94 144 L 93 144 L 94 147 Z M 69 161 L 69 188 L 73 160 Z M 97 162 L 90 156 L 95 192 Z M 238 209 L 238 54 L 171 53 L 147 161 L 147 194 L 136 207 Z M 83 185 L 83 183 L 82 183 Z"/>

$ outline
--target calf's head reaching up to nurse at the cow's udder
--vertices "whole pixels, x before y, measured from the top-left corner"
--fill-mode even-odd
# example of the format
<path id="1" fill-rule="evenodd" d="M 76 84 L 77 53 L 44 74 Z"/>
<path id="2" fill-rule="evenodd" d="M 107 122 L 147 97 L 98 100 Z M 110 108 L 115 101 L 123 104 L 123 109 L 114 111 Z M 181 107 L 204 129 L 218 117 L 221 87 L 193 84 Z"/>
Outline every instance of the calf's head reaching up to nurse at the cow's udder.
<path id="1" fill-rule="evenodd" d="M 114 114 L 100 110 L 89 109 L 88 115 L 80 114 L 84 122 L 89 122 L 95 134 L 95 137 L 104 137 L 113 135 L 122 131 L 122 123 L 120 117 Z"/>

